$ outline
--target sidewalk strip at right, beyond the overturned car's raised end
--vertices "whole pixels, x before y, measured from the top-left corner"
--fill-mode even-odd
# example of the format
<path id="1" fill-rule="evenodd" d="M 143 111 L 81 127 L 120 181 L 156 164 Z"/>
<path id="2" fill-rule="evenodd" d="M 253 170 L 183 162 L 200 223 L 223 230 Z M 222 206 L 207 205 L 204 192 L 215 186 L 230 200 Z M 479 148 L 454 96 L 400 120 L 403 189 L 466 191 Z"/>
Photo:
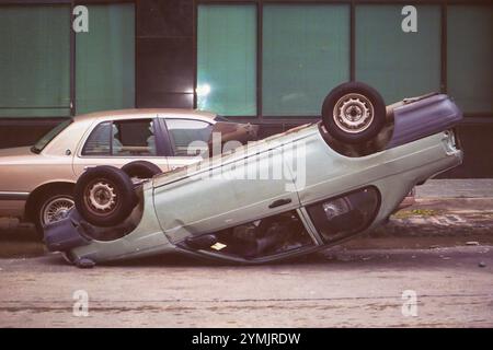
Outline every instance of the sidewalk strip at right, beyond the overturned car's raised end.
<path id="1" fill-rule="evenodd" d="M 416 186 L 415 199 L 367 236 L 493 243 L 493 179 L 431 179 Z"/>

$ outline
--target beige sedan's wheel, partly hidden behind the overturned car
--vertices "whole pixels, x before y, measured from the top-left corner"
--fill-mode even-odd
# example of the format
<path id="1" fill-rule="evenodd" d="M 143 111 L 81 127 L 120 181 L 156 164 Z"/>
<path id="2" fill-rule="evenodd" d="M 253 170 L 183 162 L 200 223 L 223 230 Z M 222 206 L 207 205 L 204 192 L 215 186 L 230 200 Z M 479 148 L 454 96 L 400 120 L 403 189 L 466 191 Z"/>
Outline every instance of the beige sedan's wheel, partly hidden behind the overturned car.
<path id="1" fill-rule="evenodd" d="M 34 224 L 39 237 L 43 226 L 64 219 L 73 207 L 73 189 L 69 186 L 49 189 L 39 195 L 34 207 Z"/>

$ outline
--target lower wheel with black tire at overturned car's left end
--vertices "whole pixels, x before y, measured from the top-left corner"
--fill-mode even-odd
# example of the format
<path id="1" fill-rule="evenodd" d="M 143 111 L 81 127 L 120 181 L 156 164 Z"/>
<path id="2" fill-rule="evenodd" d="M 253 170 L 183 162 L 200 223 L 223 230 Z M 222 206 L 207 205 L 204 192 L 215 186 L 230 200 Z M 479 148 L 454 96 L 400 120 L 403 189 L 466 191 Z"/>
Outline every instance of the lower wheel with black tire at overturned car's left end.
<path id="1" fill-rule="evenodd" d="M 74 199 L 80 215 L 101 228 L 122 223 L 137 205 L 130 177 L 108 165 L 83 173 L 76 184 Z"/>

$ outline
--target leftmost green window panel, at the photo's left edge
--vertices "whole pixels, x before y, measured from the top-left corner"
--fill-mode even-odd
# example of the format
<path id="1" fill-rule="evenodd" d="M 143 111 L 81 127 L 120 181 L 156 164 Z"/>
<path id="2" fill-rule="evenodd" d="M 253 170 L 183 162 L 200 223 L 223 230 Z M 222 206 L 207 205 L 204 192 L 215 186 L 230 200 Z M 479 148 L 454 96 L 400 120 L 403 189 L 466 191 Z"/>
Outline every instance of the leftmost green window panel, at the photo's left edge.
<path id="1" fill-rule="evenodd" d="M 0 7 L 0 117 L 70 115 L 70 7 Z"/>

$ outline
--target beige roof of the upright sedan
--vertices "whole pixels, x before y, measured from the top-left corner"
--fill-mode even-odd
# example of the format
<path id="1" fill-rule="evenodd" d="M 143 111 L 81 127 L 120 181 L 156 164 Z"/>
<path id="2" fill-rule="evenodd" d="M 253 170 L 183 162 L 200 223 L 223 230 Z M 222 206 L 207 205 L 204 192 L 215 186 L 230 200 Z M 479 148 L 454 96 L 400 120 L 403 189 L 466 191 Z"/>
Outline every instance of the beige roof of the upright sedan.
<path id="1" fill-rule="evenodd" d="M 96 119 L 100 117 L 142 117 L 142 116 L 156 116 L 157 114 L 160 115 L 172 115 L 172 116 L 194 116 L 199 119 L 210 119 L 217 117 L 217 115 L 209 113 L 209 112 L 203 112 L 197 109 L 186 109 L 186 108 L 131 108 L 131 109 L 116 109 L 116 110 L 102 110 L 102 112 L 94 112 L 94 113 L 88 113 L 88 114 L 81 114 L 73 117 L 73 120 L 84 120 L 84 119 Z"/>

